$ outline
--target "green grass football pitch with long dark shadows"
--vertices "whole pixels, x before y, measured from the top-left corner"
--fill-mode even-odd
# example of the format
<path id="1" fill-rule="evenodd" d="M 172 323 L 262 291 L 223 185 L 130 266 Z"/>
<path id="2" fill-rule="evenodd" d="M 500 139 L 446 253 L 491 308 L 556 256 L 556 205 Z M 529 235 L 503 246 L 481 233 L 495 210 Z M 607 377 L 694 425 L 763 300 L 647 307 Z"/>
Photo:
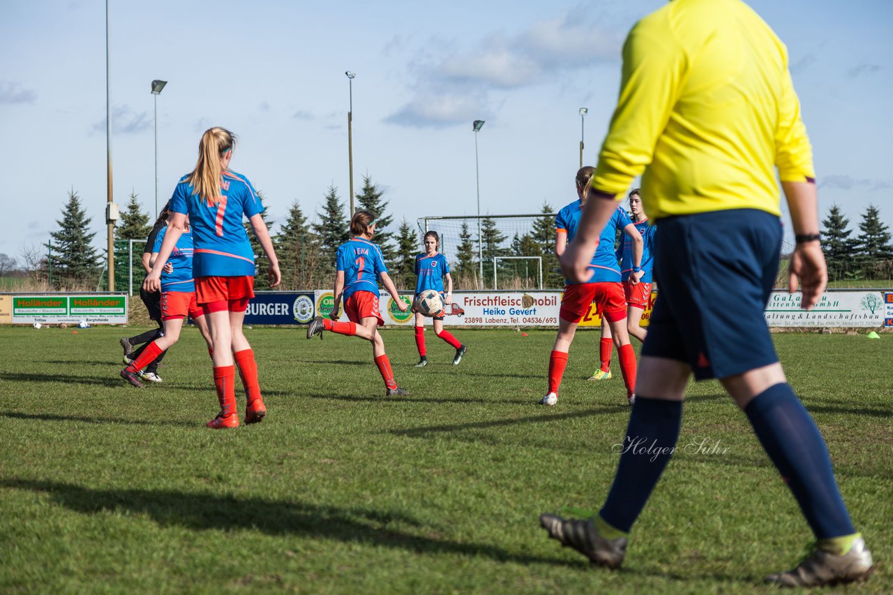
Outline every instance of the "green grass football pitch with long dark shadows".
<path id="1" fill-rule="evenodd" d="M 429 331 L 416 369 L 412 333 L 387 330 L 399 401 L 368 343 L 304 332 L 246 331 L 270 415 L 212 431 L 195 329 L 139 391 L 117 376 L 133 327 L 0 327 L 0 591 L 750 592 L 812 539 L 746 417 L 701 383 L 680 446 L 718 451 L 677 451 L 623 569 L 591 568 L 538 515 L 597 509 L 613 477 L 629 408 L 621 380 L 584 380 L 597 334 L 546 409 L 551 331 L 456 331 L 457 368 Z M 858 590 L 891 592 L 893 337 L 773 336 L 874 554 Z"/>

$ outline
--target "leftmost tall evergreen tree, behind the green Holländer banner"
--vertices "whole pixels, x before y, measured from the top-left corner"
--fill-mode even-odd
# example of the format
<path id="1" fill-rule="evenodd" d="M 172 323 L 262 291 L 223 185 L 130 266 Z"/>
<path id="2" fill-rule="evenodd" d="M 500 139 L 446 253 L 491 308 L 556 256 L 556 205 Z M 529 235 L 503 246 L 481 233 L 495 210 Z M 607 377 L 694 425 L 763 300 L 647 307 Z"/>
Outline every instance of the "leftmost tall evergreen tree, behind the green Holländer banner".
<path id="1" fill-rule="evenodd" d="M 89 233 L 87 211 L 80 203 L 78 193 L 68 193 L 68 202 L 57 219 L 59 231 L 50 233 L 53 238 L 54 285 L 95 282 L 100 265 L 96 249 L 91 245 L 96 232 Z"/>

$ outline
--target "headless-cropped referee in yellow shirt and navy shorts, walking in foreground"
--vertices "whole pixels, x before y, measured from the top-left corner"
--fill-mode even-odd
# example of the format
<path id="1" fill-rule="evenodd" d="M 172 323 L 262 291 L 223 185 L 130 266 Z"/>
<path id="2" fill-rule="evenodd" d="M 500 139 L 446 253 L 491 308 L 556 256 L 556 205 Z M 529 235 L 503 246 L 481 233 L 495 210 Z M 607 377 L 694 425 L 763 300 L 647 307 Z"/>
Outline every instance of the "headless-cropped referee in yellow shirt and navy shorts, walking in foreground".
<path id="1" fill-rule="evenodd" d="M 620 465 L 598 515 L 545 514 L 549 535 L 616 568 L 630 528 L 679 438 L 689 376 L 718 378 L 744 410 L 817 544 L 783 586 L 864 579 L 871 552 L 840 497 L 828 449 L 781 368 L 764 321 L 779 265 L 778 182 L 797 247 L 790 291 L 812 308 L 827 283 L 812 148 L 788 52 L 740 0 L 674 0 L 630 31 L 620 98 L 589 187 L 565 277 L 581 280 L 615 201 L 642 174 L 645 211 L 660 228 L 655 304 Z M 599 200 L 600 199 L 600 200 Z M 735 296 L 735 308 L 717 295 Z M 631 448 L 646 438 L 653 448 Z M 660 453 L 655 455 L 655 452 Z"/>

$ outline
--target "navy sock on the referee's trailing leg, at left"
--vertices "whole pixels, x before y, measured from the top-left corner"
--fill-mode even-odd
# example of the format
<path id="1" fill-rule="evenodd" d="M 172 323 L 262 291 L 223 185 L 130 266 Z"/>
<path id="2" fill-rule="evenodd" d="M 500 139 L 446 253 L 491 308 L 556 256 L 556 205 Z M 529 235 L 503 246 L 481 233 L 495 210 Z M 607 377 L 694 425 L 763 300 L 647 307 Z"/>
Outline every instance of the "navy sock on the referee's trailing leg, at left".
<path id="1" fill-rule="evenodd" d="M 682 401 L 636 396 L 620 465 L 599 515 L 628 533 L 672 457 L 682 423 Z"/>

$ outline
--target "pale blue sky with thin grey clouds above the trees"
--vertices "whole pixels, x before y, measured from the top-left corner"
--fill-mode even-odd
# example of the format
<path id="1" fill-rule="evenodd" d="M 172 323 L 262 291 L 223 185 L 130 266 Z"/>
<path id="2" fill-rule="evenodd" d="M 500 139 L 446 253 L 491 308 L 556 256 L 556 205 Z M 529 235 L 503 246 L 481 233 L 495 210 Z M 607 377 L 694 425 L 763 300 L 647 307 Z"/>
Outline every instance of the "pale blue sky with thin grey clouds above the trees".
<path id="1" fill-rule="evenodd" d="M 199 136 L 240 137 L 233 169 L 282 221 L 311 218 L 326 189 L 348 194 L 345 70 L 356 72 L 355 186 L 368 173 L 396 219 L 536 212 L 575 197 L 580 115 L 596 160 L 613 110 L 620 47 L 663 0 L 308 3 L 110 2 L 114 200 L 158 195 L 192 169 Z M 811 136 L 822 217 L 839 204 L 856 229 L 869 203 L 893 227 L 893 2 L 754 0 L 789 47 Z M 72 187 L 104 246 L 105 3 L 4 0 L 0 8 L 0 166 L 16 257 L 45 243 Z M 275 232 L 277 227 L 274 226 Z"/>

